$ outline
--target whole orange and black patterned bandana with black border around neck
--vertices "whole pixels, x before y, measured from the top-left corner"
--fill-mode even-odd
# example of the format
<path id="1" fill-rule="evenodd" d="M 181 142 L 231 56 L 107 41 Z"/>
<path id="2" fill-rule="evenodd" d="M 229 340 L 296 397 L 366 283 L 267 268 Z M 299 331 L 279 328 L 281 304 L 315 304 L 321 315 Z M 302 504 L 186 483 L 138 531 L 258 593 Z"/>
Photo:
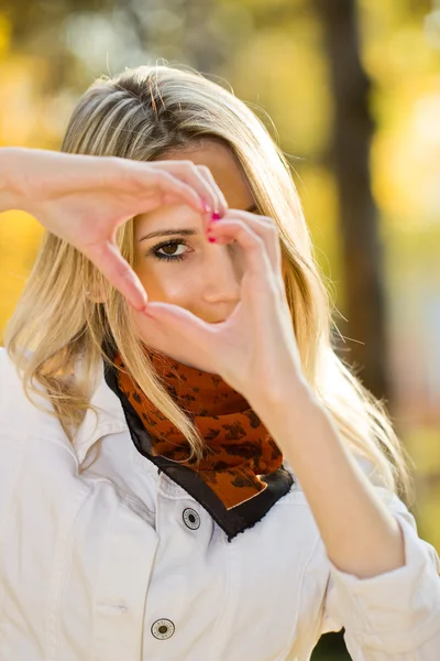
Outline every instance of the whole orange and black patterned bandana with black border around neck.
<path id="1" fill-rule="evenodd" d="M 248 401 L 221 377 L 146 346 L 144 350 L 167 392 L 189 414 L 206 447 L 201 462 L 189 463 L 190 446 L 182 432 L 130 375 L 118 370 L 109 384 L 120 395 L 125 415 L 130 409 L 131 421 L 133 414 L 138 418 L 138 437 L 133 441 L 160 470 L 210 511 L 232 538 L 256 523 L 289 491 L 293 477 L 282 466 L 283 454 Z M 113 360 L 118 368 L 124 367 L 118 351 Z M 133 424 L 129 426 L 132 432 Z M 147 432 L 147 443 L 140 440 L 140 427 L 144 436 Z"/>

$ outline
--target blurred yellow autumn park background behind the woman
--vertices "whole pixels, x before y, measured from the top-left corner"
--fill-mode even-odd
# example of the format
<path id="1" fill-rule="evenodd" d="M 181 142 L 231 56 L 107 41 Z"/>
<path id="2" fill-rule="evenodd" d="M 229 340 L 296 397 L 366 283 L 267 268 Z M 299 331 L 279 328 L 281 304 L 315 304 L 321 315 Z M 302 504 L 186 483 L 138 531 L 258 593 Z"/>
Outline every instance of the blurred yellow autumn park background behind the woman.
<path id="1" fill-rule="evenodd" d="M 440 0 L 3 0 L 0 145 L 58 150 L 78 97 L 125 66 L 232 87 L 294 169 L 338 350 L 384 398 L 440 551 Z M 0 223 L 0 344 L 42 228 Z M 348 659 L 340 635 L 314 661 Z"/>

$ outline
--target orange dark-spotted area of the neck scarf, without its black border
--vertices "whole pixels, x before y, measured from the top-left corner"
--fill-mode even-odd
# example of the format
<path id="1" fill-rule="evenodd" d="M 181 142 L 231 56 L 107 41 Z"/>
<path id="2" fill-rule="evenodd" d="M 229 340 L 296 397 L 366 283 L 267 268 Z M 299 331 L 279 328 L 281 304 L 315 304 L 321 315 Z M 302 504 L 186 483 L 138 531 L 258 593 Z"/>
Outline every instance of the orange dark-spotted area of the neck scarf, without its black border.
<path id="1" fill-rule="evenodd" d="M 265 491 L 268 485 L 260 476 L 277 472 L 283 454 L 248 401 L 217 375 L 188 367 L 146 346 L 145 354 L 168 393 L 190 415 L 208 446 L 199 464 L 189 464 L 190 448 L 184 435 L 129 375 L 118 371 L 119 389 L 148 432 L 153 454 L 182 462 L 196 472 L 227 510 Z M 119 353 L 114 362 L 123 367 Z M 282 495 L 279 491 L 276 498 Z"/>

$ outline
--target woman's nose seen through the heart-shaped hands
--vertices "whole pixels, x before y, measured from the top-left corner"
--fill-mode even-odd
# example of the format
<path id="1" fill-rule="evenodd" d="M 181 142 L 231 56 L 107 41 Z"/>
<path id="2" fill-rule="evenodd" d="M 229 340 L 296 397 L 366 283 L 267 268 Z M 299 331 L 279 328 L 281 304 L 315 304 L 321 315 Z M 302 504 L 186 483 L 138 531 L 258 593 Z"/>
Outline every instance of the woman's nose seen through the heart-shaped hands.
<path id="1" fill-rule="evenodd" d="M 208 243 L 205 254 L 204 300 L 211 305 L 228 303 L 227 316 L 240 300 L 241 269 L 237 253 L 231 246 Z"/>

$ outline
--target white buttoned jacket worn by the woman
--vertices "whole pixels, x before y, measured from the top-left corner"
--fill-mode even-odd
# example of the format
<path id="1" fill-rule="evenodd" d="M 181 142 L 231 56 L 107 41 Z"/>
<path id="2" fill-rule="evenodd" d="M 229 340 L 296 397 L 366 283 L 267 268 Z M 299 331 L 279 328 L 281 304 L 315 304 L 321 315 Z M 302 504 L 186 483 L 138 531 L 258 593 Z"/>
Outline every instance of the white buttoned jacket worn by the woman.
<path id="1" fill-rule="evenodd" d="M 438 556 L 395 496 L 406 565 L 374 578 L 329 562 L 297 483 L 228 543 L 135 449 L 103 369 L 92 403 L 73 447 L 0 349 L 1 661 L 307 661 L 341 627 L 355 661 L 440 659 Z"/>

